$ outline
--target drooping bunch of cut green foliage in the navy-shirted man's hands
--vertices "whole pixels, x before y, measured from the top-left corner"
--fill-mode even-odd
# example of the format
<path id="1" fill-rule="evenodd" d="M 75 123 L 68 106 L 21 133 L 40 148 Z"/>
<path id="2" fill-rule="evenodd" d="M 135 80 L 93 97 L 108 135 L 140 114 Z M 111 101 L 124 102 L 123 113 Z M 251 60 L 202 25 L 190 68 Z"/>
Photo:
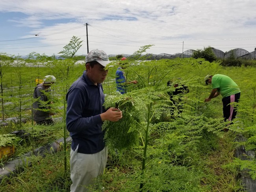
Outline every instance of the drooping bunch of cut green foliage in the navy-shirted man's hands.
<path id="1" fill-rule="evenodd" d="M 106 97 L 104 106 L 115 107 L 119 103 L 122 119 L 118 122 L 105 121 L 102 129 L 106 131 L 105 140 L 109 147 L 122 150 L 138 143 L 137 122 L 140 122 L 139 111 L 132 97 L 119 93 Z"/>

